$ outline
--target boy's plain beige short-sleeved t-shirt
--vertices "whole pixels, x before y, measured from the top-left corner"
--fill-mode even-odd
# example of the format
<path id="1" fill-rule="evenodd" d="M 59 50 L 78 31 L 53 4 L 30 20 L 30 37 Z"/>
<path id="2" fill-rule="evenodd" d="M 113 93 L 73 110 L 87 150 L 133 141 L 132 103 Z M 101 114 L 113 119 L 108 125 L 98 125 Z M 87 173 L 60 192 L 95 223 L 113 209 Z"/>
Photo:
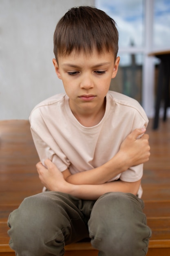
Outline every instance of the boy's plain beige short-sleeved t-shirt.
<path id="1" fill-rule="evenodd" d="M 96 126 L 85 127 L 79 123 L 64 93 L 35 106 L 29 120 L 40 161 L 51 159 L 60 171 L 69 168 L 72 174 L 106 163 L 132 130 L 148 124 L 146 113 L 136 100 L 113 91 L 106 95 L 105 114 Z M 143 164 L 140 164 L 110 181 L 135 182 L 142 175 Z M 141 195 L 140 187 L 138 196 Z"/>

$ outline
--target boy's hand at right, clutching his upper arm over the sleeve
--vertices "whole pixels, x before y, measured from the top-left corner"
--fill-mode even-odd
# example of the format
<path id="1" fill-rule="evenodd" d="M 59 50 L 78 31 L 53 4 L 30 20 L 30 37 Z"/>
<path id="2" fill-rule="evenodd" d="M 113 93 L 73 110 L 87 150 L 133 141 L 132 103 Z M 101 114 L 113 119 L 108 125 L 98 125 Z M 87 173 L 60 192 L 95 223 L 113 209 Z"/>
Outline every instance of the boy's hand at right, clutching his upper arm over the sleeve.
<path id="1" fill-rule="evenodd" d="M 126 137 L 120 146 L 120 152 L 124 157 L 127 157 L 129 167 L 145 163 L 149 160 L 149 135 L 144 134 L 145 131 L 145 128 L 135 129 Z"/>

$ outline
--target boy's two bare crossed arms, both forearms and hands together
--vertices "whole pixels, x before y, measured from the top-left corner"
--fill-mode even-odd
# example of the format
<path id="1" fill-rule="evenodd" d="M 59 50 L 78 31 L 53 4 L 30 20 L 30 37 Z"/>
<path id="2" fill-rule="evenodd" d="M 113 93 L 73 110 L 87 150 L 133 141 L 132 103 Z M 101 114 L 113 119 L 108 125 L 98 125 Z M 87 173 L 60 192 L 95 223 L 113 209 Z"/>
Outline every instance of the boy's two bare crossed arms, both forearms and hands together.
<path id="1" fill-rule="evenodd" d="M 97 168 L 71 174 L 67 168 L 62 173 L 49 159 L 44 167 L 39 162 L 36 167 L 40 180 L 51 191 L 69 193 L 84 200 L 96 200 L 107 192 L 125 192 L 137 194 L 141 180 L 124 182 L 121 180 L 108 182 L 116 175 L 126 171 L 131 166 L 147 162 L 150 156 L 149 136 L 146 129 L 136 129 L 122 142 L 118 153 L 108 162 Z"/>

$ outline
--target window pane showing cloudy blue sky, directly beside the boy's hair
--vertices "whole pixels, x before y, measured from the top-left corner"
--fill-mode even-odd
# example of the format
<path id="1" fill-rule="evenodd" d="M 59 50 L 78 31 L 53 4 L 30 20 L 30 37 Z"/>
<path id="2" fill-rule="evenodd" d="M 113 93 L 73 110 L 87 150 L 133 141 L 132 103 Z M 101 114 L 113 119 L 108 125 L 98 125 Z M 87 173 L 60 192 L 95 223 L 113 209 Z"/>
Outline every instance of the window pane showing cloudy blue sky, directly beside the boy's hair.
<path id="1" fill-rule="evenodd" d="M 119 47 L 144 45 L 144 6 L 142 0 L 97 0 L 96 6 L 117 23 Z"/>

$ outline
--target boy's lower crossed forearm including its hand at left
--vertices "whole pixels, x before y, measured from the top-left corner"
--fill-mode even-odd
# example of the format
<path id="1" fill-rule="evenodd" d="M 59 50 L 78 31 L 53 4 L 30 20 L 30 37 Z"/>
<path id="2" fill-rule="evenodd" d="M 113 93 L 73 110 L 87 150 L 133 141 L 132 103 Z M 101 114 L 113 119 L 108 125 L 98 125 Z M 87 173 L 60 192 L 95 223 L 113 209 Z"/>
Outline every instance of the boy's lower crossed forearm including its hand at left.
<path id="1" fill-rule="evenodd" d="M 107 192 L 124 192 L 137 194 L 140 182 L 124 182 L 121 180 L 108 182 L 104 184 L 71 184 L 68 183 L 58 168 L 49 160 L 45 160 L 47 166 L 44 167 L 41 162 L 36 164 L 40 180 L 46 188 L 51 191 L 60 191 L 71 194 L 84 200 L 96 200 Z"/>

